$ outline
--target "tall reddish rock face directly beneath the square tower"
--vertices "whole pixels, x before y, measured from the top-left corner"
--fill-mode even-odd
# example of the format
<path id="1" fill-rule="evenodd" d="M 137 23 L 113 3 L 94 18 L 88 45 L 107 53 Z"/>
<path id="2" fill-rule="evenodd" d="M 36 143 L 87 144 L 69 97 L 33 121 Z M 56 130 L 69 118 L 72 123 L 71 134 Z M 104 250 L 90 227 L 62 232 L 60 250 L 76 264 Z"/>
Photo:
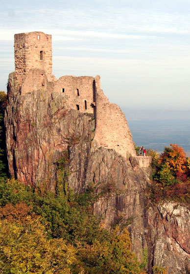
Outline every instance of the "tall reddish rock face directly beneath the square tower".
<path id="1" fill-rule="evenodd" d="M 68 144 L 91 136 L 95 129 L 93 114 L 82 114 L 67 105 L 67 95 L 47 95 L 39 89 L 20 94 L 14 73 L 8 84 L 5 113 L 6 140 L 11 175 L 35 186 L 45 183 L 53 190 L 56 161 Z"/>

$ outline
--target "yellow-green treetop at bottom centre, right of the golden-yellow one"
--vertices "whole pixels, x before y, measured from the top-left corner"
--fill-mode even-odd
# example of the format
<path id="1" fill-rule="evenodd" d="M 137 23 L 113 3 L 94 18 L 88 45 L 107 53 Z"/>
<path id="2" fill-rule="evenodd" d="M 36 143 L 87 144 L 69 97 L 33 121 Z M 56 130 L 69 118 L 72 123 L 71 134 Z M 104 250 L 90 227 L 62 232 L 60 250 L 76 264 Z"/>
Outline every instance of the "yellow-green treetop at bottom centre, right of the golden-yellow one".
<path id="1" fill-rule="evenodd" d="M 95 240 L 79 249 L 80 265 L 89 274 L 139 274 L 140 264 L 131 251 L 129 232 L 113 230 L 109 241 Z"/>

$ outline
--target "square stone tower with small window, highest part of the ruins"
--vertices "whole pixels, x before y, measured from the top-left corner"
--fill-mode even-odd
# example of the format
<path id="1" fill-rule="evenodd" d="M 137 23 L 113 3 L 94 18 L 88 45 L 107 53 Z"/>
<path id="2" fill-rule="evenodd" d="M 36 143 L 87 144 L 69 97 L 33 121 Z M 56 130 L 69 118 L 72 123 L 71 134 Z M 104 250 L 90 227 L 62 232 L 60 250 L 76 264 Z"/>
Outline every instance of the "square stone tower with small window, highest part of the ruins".
<path id="1" fill-rule="evenodd" d="M 44 32 L 15 34 L 15 74 L 23 83 L 31 68 L 43 69 L 47 76 L 52 74 L 51 35 Z"/>

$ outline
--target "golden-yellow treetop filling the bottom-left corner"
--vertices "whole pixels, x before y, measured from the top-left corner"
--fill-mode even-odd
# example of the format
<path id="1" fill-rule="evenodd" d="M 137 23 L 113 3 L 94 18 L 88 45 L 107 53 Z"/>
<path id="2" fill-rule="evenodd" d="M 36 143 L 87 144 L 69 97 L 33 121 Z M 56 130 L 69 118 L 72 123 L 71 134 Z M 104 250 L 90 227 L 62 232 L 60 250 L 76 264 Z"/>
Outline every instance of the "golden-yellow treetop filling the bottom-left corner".
<path id="1" fill-rule="evenodd" d="M 40 217 L 27 216 L 22 224 L 0 221 L 0 269 L 14 274 L 68 274 L 76 261 L 75 248 L 63 239 L 49 239 Z"/>

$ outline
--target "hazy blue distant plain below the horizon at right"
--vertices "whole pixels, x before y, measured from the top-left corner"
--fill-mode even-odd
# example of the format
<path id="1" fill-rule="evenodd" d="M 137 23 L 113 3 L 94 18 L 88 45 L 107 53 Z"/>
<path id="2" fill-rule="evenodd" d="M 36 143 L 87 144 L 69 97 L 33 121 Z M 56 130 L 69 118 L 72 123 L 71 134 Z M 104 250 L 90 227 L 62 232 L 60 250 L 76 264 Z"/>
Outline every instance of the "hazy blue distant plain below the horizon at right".
<path id="1" fill-rule="evenodd" d="M 190 156 L 190 120 L 128 120 L 137 146 L 163 152 L 165 146 L 178 144 Z"/>

